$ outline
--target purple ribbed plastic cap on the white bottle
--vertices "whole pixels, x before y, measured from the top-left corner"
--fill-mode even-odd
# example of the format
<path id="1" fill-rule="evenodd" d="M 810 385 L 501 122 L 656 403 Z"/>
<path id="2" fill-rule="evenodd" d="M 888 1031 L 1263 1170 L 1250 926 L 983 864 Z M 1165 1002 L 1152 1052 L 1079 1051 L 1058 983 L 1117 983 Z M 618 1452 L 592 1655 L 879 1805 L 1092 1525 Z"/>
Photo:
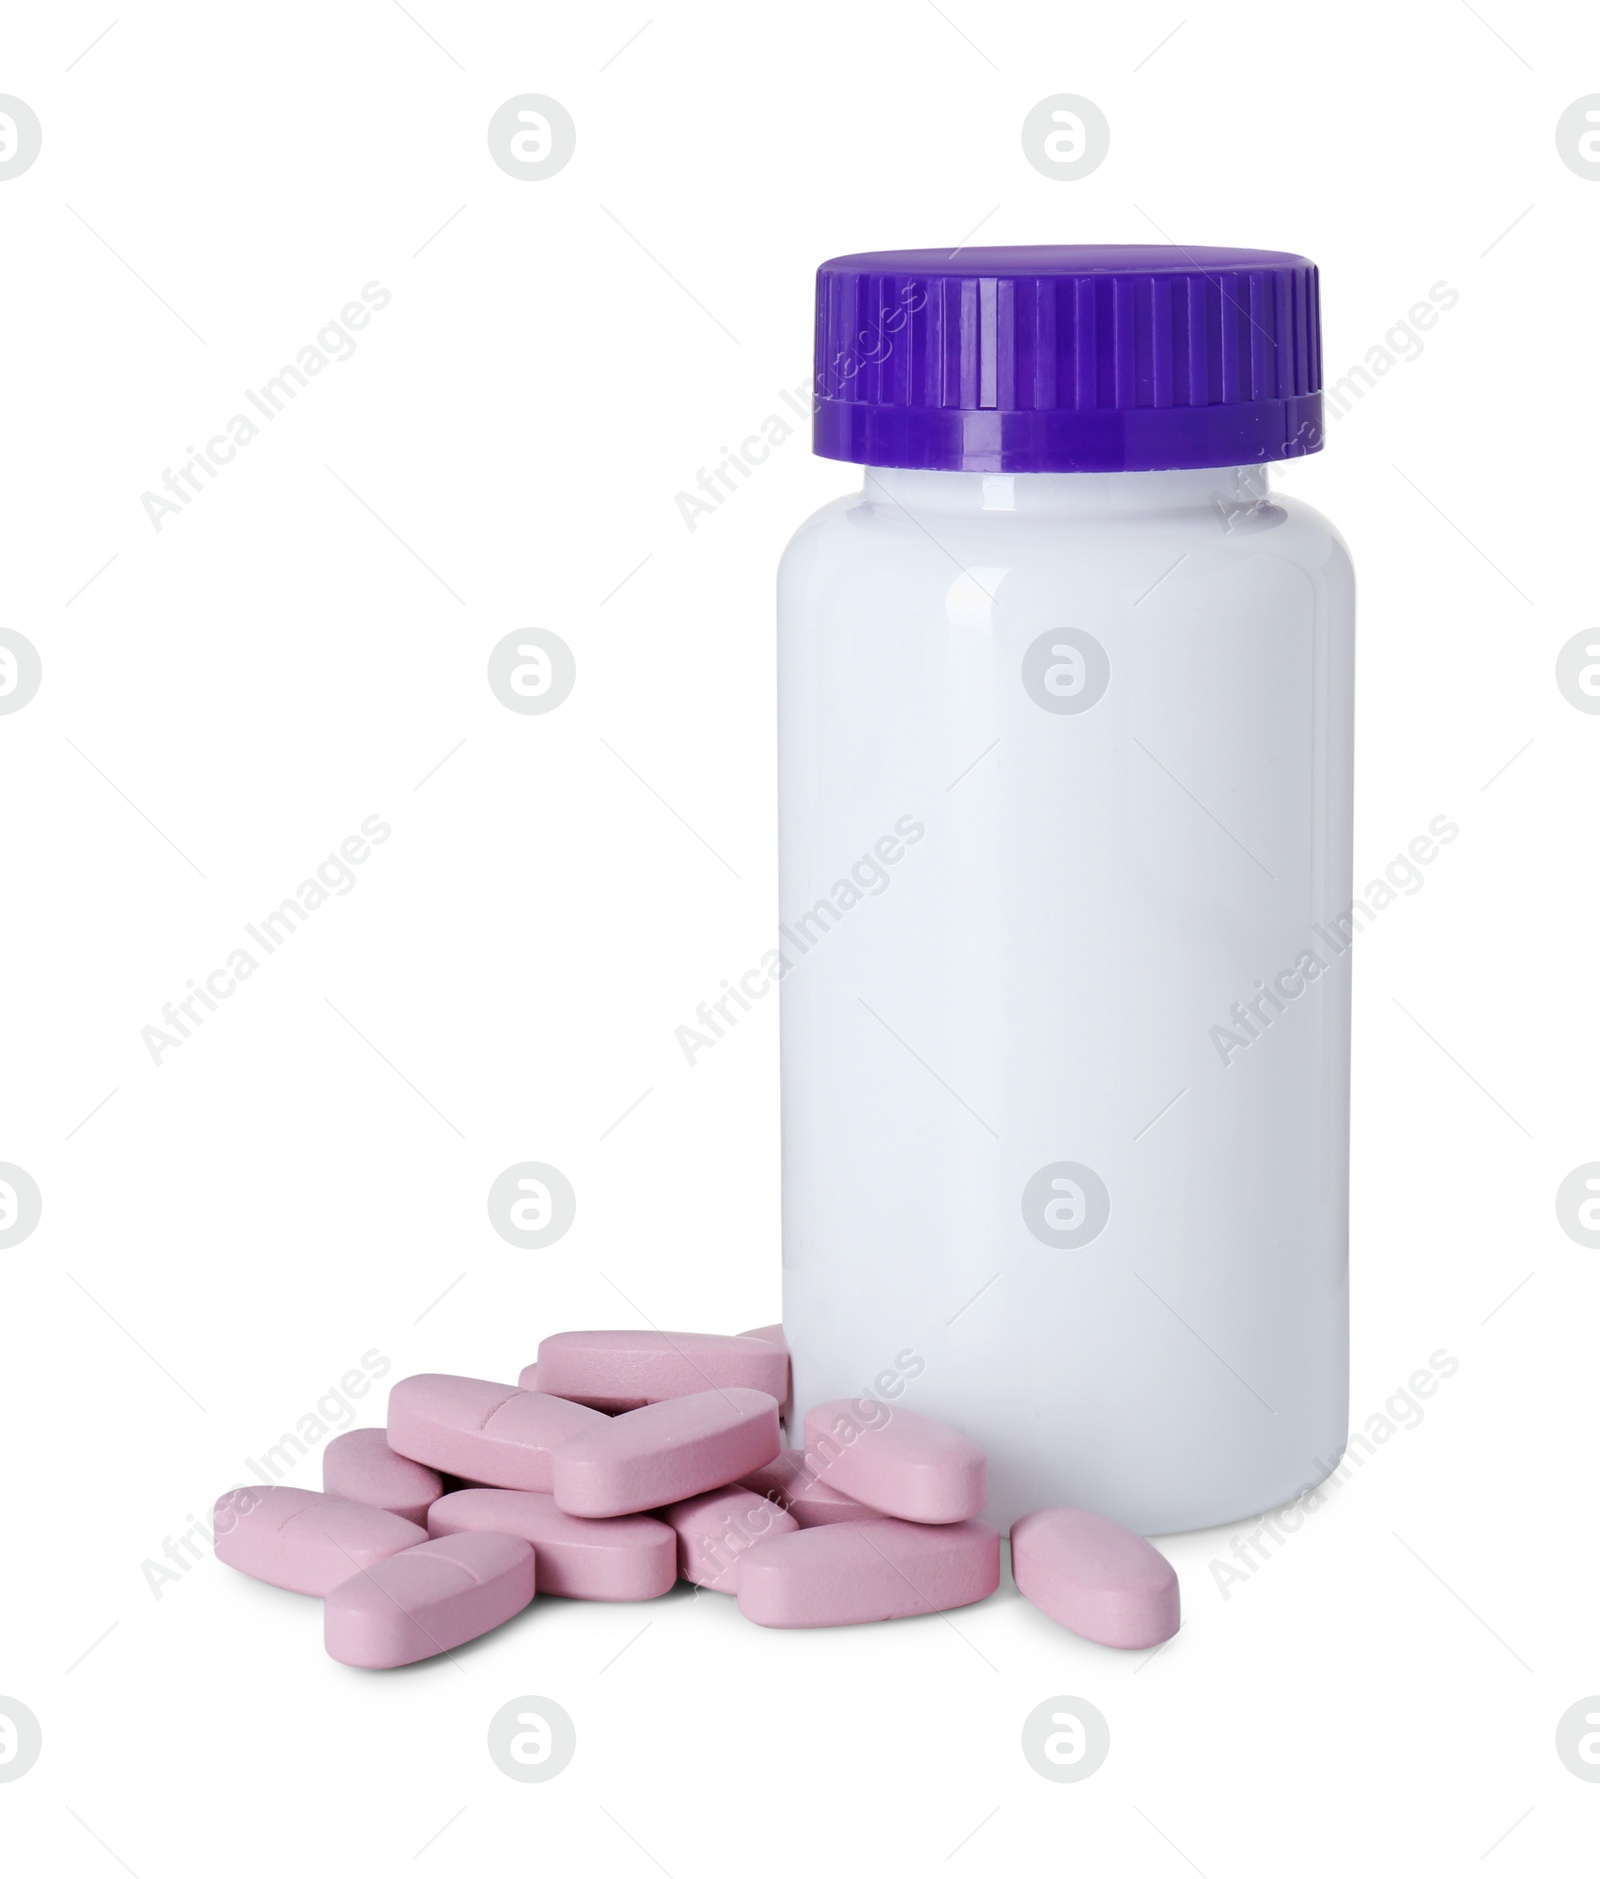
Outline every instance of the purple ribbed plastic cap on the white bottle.
<path id="1" fill-rule="evenodd" d="M 817 269 L 819 457 L 1202 470 L 1322 449 L 1316 269 L 1260 248 L 916 248 Z"/>

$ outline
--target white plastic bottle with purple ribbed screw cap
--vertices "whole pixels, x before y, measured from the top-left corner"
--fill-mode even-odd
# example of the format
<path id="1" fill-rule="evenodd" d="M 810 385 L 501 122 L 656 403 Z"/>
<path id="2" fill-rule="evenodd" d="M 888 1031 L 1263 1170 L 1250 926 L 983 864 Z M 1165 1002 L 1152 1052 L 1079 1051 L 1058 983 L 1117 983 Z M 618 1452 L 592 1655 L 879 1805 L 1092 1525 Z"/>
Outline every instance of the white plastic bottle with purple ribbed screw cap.
<path id="1" fill-rule="evenodd" d="M 1346 1432 L 1354 584 L 1316 271 L 845 256 L 779 575 L 783 1319 L 990 1516 L 1142 1533 Z M 1341 917 L 1343 924 L 1341 924 Z"/>

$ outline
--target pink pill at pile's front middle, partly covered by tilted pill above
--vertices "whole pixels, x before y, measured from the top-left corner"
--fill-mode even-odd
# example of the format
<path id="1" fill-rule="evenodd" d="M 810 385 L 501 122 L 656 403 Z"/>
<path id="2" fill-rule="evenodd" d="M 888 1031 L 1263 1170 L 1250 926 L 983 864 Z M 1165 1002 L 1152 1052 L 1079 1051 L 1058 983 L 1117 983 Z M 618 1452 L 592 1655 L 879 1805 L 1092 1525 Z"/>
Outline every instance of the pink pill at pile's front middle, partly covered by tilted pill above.
<path id="1" fill-rule="evenodd" d="M 678 1546 L 650 1514 L 580 1520 L 550 1494 L 464 1488 L 428 1509 L 428 1531 L 511 1533 L 539 1560 L 539 1593 L 562 1599 L 659 1599 L 678 1582 Z"/>

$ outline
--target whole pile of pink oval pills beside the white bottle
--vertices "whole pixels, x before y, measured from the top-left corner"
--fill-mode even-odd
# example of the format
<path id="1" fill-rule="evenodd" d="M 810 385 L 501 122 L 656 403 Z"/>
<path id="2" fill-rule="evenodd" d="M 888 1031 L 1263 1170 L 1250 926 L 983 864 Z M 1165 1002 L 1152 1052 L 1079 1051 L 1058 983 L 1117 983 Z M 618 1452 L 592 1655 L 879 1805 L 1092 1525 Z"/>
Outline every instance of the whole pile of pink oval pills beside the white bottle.
<path id="1" fill-rule="evenodd" d="M 779 1629 L 915 1618 L 999 1586 L 982 1451 L 875 1398 L 806 1415 L 785 1449 L 779 1327 L 738 1338 L 545 1338 L 515 1385 L 406 1377 L 389 1426 L 323 1451 L 323 1492 L 235 1488 L 216 1556 L 323 1599 L 331 1657 L 381 1670 L 515 1618 L 535 1592 L 655 1599 L 678 1578 Z M 1112 1520 L 1046 1507 L 1010 1530 L 1025 1599 L 1099 1644 L 1177 1629 L 1177 1578 Z"/>

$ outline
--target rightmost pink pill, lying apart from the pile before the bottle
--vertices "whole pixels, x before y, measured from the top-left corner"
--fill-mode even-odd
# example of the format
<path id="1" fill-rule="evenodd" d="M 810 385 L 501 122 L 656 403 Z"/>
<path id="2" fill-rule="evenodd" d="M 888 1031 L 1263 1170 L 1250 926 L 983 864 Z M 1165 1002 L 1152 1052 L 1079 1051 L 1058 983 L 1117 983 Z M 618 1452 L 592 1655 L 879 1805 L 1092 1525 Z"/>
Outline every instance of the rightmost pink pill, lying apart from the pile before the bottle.
<path id="1" fill-rule="evenodd" d="M 1046 1507 L 1010 1530 L 1016 1590 L 1069 1631 L 1144 1650 L 1177 1629 L 1177 1575 L 1138 1533 L 1082 1507 Z"/>

